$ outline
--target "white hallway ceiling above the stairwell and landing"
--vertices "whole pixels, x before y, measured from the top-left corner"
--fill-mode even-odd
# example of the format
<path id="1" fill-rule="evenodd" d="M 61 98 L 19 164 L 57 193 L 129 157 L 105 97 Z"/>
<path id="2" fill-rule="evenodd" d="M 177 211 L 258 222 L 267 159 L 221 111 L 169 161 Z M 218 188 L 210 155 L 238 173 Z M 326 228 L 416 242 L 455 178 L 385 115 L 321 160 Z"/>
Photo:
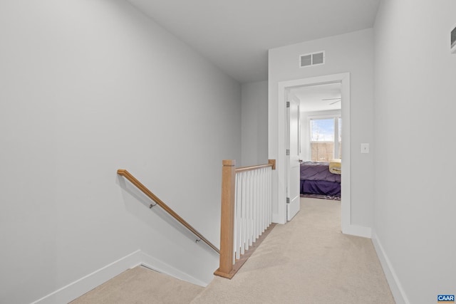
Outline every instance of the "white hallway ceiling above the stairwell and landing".
<path id="1" fill-rule="evenodd" d="M 128 0 L 240 83 L 267 50 L 371 28 L 380 0 Z"/>

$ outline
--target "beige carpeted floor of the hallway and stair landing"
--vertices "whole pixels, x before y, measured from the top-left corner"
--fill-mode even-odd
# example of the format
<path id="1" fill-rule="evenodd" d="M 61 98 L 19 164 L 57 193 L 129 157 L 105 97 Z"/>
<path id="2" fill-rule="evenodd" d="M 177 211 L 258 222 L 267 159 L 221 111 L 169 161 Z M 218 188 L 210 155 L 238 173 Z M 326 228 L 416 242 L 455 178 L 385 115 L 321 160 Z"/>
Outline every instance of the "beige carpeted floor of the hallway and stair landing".
<path id="1" fill-rule="evenodd" d="M 133 268 L 72 304 L 395 303 L 371 240 L 340 226 L 340 201 L 301 198 L 301 211 L 277 225 L 232 280 L 214 277 L 200 288 Z"/>

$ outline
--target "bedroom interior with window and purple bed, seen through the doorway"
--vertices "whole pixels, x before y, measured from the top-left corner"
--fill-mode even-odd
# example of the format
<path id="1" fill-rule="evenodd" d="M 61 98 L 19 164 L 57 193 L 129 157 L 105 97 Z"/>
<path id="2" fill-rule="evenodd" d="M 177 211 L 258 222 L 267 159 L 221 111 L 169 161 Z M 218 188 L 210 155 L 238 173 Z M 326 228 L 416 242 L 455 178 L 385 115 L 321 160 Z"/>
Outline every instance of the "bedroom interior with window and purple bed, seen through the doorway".
<path id="1" fill-rule="evenodd" d="M 291 88 L 300 103 L 301 197 L 341 200 L 341 83 Z"/>

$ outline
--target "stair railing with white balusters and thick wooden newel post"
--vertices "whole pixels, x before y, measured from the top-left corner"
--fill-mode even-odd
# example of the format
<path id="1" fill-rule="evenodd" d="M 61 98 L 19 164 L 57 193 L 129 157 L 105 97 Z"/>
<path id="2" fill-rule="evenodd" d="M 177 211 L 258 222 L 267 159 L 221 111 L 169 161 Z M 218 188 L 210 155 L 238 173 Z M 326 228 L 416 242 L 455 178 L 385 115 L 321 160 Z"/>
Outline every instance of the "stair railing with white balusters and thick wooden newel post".
<path id="1" fill-rule="evenodd" d="M 222 169 L 220 267 L 214 274 L 224 278 L 232 278 L 247 261 L 247 251 L 272 221 L 275 160 L 252 167 L 235 168 L 235 164 L 224 160 Z"/>

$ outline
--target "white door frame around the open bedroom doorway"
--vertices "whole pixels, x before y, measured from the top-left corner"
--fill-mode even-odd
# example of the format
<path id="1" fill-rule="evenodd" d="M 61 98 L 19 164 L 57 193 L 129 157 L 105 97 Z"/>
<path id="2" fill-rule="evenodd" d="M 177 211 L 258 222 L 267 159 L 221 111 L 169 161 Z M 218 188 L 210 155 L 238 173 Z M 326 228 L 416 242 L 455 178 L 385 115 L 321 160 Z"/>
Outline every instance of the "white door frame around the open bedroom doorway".
<path id="1" fill-rule="evenodd" d="M 277 162 L 286 164 L 286 89 L 306 85 L 321 85 L 326 83 L 341 83 L 341 116 L 342 127 L 342 178 L 341 178 L 341 230 L 344 234 L 351 233 L 351 164 L 350 164 L 350 73 L 339 73 L 333 75 L 323 75 L 311 78 L 301 78 L 286 80 L 278 83 L 278 140 L 277 140 Z M 286 169 L 277 168 L 276 187 L 277 202 L 275 222 L 286 223 Z"/>

